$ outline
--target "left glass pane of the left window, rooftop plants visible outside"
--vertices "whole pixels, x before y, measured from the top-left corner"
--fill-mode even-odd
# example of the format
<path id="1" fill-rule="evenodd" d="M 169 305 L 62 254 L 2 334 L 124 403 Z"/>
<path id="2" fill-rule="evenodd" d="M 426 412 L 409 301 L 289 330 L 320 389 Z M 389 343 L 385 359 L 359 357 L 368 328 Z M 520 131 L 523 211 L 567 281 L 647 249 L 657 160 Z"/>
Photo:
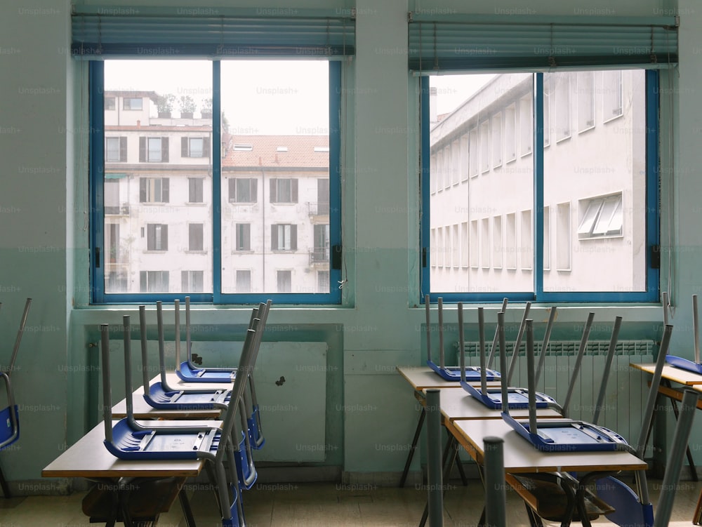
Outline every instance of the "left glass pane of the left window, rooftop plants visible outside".
<path id="1" fill-rule="evenodd" d="M 119 213 L 105 293 L 212 292 L 212 121 L 179 113 L 212 97 L 211 79 L 209 61 L 105 60 L 105 197 Z"/>

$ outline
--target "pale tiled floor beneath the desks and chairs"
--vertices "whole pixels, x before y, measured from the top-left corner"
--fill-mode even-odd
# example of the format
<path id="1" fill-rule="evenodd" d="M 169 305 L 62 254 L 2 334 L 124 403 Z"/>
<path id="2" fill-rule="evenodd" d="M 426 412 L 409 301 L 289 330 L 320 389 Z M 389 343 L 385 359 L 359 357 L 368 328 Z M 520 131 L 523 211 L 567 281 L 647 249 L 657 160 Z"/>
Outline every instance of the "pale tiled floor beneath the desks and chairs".
<path id="1" fill-rule="evenodd" d="M 649 481 L 654 507 L 660 481 Z M 683 481 L 675 497 L 671 526 L 691 526 L 701 483 Z M 3 527 L 88 527 L 81 512 L 84 493 L 69 496 L 0 499 L 0 526 Z M 479 482 L 462 486 L 456 481 L 444 499 L 444 526 L 475 526 L 482 507 Z M 190 498 L 198 527 L 220 526 L 211 493 L 194 491 Z M 401 527 L 417 526 L 426 502 L 426 492 L 418 488 L 349 488 L 335 483 L 257 484 L 244 494 L 249 527 Z M 547 525 L 551 525 L 546 523 Z M 598 527 L 608 525 L 598 520 Z M 183 527 L 180 506 L 161 514 L 162 527 Z M 525 526 L 524 506 L 508 493 L 508 525 Z"/>

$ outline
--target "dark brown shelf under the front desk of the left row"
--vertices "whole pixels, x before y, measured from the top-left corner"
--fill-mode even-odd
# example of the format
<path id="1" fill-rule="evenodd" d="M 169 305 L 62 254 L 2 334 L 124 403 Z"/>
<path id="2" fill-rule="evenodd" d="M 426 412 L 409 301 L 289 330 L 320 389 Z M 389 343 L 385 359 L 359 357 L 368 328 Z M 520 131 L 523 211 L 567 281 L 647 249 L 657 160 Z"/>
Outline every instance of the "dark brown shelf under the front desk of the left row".
<path id="1" fill-rule="evenodd" d="M 145 479 L 131 481 L 124 498 L 128 503 L 132 521 L 157 521 L 161 512 L 168 512 L 178 498 L 185 483 L 184 477 L 166 479 Z M 123 521 L 121 512 L 115 510 L 117 505 L 117 485 L 98 483 L 83 498 L 83 512 L 90 516 L 91 522 L 107 522 L 110 519 Z"/>

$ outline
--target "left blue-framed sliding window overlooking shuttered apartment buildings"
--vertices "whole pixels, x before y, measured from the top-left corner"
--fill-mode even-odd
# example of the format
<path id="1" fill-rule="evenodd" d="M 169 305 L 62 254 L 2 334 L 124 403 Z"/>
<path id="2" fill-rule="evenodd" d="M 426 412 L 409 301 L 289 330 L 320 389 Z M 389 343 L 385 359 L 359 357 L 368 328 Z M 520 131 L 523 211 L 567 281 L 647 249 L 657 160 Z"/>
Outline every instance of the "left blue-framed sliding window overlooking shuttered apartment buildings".
<path id="1" fill-rule="evenodd" d="M 143 59 L 141 62 L 147 61 L 148 59 Z M 227 84 L 229 81 L 225 79 L 227 68 L 234 62 L 251 61 L 197 62 L 205 63 L 210 69 L 211 88 L 207 93 L 194 95 L 204 95 L 211 99 L 208 100 L 211 114 L 223 115 L 222 119 L 212 119 L 204 114 L 200 116 L 197 111 L 194 117 L 181 116 L 183 122 L 177 124 L 174 123 L 174 120 L 179 119 L 177 116 L 156 117 L 156 105 L 160 100 L 158 95 L 166 94 L 148 91 L 121 93 L 123 88 L 113 89 L 116 93 L 110 93 L 111 86 L 105 81 L 110 59 L 89 62 L 91 303 L 168 301 L 183 299 L 186 295 L 193 302 L 216 304 L 256 303 L 267 298 L 278 304 L 340 303 L 340 289 L 336 284 L 341 280 L 338 255 L 341 253 L 342 239 L 342 63 L 335 60 L 309 61 L 317 64 L 323 62 L 328 67 L 329 107 L 324 108 L 324 112 L 329 115 L 328 125 L 303 128 L 303 134 L 312 130 L 312 134 L 307 135 L 316 135 L 316 138 L 307 138 L 309 145 L 306 146 L 313 152 L 311 155 L 318 159 L 312 160 L 310 166 L 291 164 L 285 172 L 280 167 L 285 167 L 285 160 L 295 155 L 295 147 L 291 142 L 291 135 L 294 134 L 285 131 L 277 134 L 281 140 L 272 142 L 272 149 L 276 150 L 278 142 L 289 147 L 277 149 L 267 159 L 260 151 L 265 140 L 258 137 L 255 128 L 243 129 L 237 125 L 232 107 L 227 106 L 229 103 L 226 96 L 232 90 L 231 82 Z M 299 58 L 287 62 L 300 64 Z M 271 78 L 282 79 L 277 76 L 273 65 L 268 73 L 273 74 Z M 295 79 L 298 77 L 299 74 Z M 272 95 L 279 95 L 279 98 L 284 95 L 285 88 L 284 84 L 260 86 L 260 90 L 268 90 Z M 112 104 L 106 105 L 107 100 L 112 101 Z M 319 105 L 319 98 L 315 102 Z M 119 119 L 119 112 L 125 105 L 128 105 L 131 112 L 128 112 L 128 116 L 121 116 L 131 121 L 115 121 L 114 119 Z M 152 113 L 150 109 L 153 110 Z M 187 107 L 181 109 L 182 112 L 187 110 Z M 125 138 L 125 158 L 128 155 L 128 159 L 119 159 L 119 172 L 110 165 L 114 159 L 105 157 L 106 131 L 109 134 L 110 127 L 117 125 L 125 130 L 120 132 L 120 136 Z M 177 129 L 178 126 L 180 130 Z M 188 126 L 192 126 L 192 131 L 189 131 Z M 246 140 L 247 135 L 251 136 L 250 140 Z M 242 140 L 246 140 L 248 145 L 243 151 L 237 148 Z M 208 148 L 203 149 L 201 156 L 194 156 L 193 145 L 200 144 L 199 142 L 208 145 Z M 183 145 L 189 146 L 187 152 L 183 151 Z M 271 165 L 270 172 L 265 173 L 267 163 Z M 192 201 L 194 178 L 202 182 L 201 190 L 199 189 L 202 199 L 198 195 L 195 202 Z M 295 200 L 286 200 L 293 206 L 287 206 L 285 216 L 280 218 L 262 212 L 270 203 L 281 201 L 279 196 L 270 195 L 270 189 L 273 188 L 278 193 L 282 192 L 279 186 L 272 185 L 276 178 L 295 183 L 294 188 L 288 189 L 291 196 L 294 192 Z M 312 218 L 310 213 L 311 210 L 316 211 L 316 208 L 310 208 L 310 203 L 319 201 L 320 178 L 329 180 L 329 211 L 324 211 L 328 218 L 320 217 L 319 213 Z M 237 185 L 237 180 L 246 181 L 246 188 Z M 112 208 L 106 210 L 106 181 L 113 184 L 110 186 L 107 208 L 112 207 L 114 211 Z M 235 196 L 232 196 L 232 189 L 237 193 Z M 119 204 L 119 207 L 115 208 L 115 204 Z M 118 209 L 119 214 L 115 215 L 114 212 Z M 258 213 L 260 220 L 251 220 L 252 211 Z M 314 228 L 319 222 L 329 225 L 331 251 L 328 251 L 328 258 L 323 261 L 311 258 L 311 255 L 317 254 Z M 205 226 L 205 250 L 188 251 L 188 225 L 199 223 Z M 237 244 L 243 243 L 237 225 L 243 224 L 249 225 L 246 244 L 250 250 L 247 251 L 242 250 L 243 246 L 237 247 Z M 294 225 L 296 239 L 291 239 L 295 244 L 289 243 L 284 246 L 285 251 L 277 251 L 282 254 L 275 254 L 271 250 L 274 241 L 271 238 L 272 225 L 276 224 L 298 224 Z M 162 238 L 157 244 L 154 225 L 161 227 L 159 232 L 170 234 L 171 239 L 167 245 Z M 183 234 L 179 234 L 181 231 Z M 114 237 L 119 239 L 113 239 Z M 211 247 L 211 251 L 207 251 L 208 247 Z M 138 258 L 134 256 L 135 253 L 139 254 Z M 276 264 L 276 258 L 284 261 Z M 304 263 L 297 265 L 295 259 Z M 326 273 L 329 279 L 319 281 L 320 273 Z M 166 280 L 169 274 L 184 278 Z M 286 276 L 284 287 L 280 285 L 283 274 Z M 242 276 L 246 276 L 245 287 L 242 285 Z M 303 282 L 303 279 L 309 284 Z M 324 287 L 320 289 L 322 286 Z"/>

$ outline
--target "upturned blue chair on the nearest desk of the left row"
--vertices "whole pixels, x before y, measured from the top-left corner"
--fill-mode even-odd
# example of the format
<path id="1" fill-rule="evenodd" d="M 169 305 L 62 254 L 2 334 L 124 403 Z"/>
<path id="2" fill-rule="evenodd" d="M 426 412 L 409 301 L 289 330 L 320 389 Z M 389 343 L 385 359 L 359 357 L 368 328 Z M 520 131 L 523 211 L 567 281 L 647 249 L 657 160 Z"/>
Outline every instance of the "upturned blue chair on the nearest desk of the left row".
<path id="1" fill-rule="evenodd" d="M 215 483 L 216 497 L 222 516 L 223 527 L 244 525 L 244 509 L 241 504 L 241 488 L 255 481 L 253 462 L 243 461 L 246 436 L 241 431 L 241 440 L 236 430 L 239 401 L 246 388 L 246 377 L 256 362 L 260 339 L 256 334 L 257 321 L 246 332 L 244 348 L 239 359 L 239 375 L 234 379 L 230 403 L 227 406 L 221 427 L 212 426 L 164 426 L 147 427 L 133 418 L 131 401 L 131 328 L 129 316 L 124 316 L 124 362 L 126 379 L 127 417 L 112 423 L 110 397 L 110 340 L 107 324 L 100 326 L 102 340 L 103 419 L 105 422 L 105 447 L 112 455 L 123 460 L 205 460 Z M 244 375 L 241 375 L 244 373 Z M 237 451 L 239 454 L 237 455 Z M 225 461 L 226 459 L 226 461 Z M 227 478 L 227 468 L 230 476 Z"/>

